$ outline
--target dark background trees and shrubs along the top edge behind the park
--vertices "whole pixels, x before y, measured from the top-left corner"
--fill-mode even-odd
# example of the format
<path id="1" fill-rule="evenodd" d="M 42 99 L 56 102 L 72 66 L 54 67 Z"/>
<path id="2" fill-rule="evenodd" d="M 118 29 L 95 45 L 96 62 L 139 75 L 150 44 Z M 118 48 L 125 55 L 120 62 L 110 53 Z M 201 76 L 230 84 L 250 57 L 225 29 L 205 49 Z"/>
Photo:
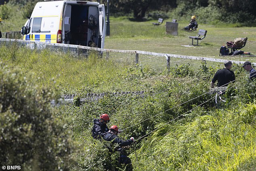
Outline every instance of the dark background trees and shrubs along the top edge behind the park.
<path id="1" fill-rule="evenodd" d="M 26 15 L 32 12 L 36 2 L 42 0 L 0 0 L 24 7 Z M 100 2 L 107 7 L 107 0 L 92 0 Z M 148 16 L 157 19 L 168 16 L 170 12 L 176 18 L 189 15 L 200 16 L 201 22 L 223 22 L 223 23 L 255 23 L 256 1 L 252 0 L 109 0 L 109 12 L 114 16 L 132 15 L 136 21 L 143 21 Z M 157 15 L 149 15 L 155 12 Z M 159 15 L 159 14 L 160 15 Z M 151 17 L 152 18 L 152 17 Z"/>

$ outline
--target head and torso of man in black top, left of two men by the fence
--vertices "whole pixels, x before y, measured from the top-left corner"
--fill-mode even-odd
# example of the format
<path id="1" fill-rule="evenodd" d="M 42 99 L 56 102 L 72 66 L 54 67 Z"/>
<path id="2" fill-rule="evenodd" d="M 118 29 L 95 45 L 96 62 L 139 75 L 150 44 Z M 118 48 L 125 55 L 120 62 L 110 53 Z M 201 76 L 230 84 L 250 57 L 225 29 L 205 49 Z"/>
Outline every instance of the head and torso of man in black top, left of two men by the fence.
<path id="1" fill-rule="evenodd" d="M 211 87 L 214 87 L 214 83 L 218 80 L 217 87 L 228 86 L 230 82 L 235 81 L 235 73 L 230 70 L 232 62 L 227 60 L 224 63 L 225 68 L 218 70 L 212 78 Z"/>

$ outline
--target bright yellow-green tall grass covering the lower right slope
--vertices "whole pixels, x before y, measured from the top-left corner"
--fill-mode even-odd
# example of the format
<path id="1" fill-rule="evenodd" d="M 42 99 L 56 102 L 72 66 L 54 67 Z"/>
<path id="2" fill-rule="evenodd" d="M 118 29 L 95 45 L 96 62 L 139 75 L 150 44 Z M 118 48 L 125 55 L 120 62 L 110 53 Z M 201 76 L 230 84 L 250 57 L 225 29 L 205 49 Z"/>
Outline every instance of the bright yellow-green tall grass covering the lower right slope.
<path id="1" fill-rule="evenodd" d="M 201 111 L 192 122 L 162 127 L 137 151 L 136 170 L 254 170 L 255 111 L 255 104 L 200 116 Z"/>

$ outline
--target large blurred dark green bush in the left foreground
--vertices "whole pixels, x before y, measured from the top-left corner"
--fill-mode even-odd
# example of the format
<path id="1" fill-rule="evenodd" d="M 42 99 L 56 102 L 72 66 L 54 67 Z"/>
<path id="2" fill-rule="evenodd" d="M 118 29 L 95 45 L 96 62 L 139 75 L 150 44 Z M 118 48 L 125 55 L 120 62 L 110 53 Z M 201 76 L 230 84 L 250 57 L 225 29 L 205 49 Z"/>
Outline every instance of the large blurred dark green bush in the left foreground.
<path id="1" fill-rule="evenodd" d="M 35 86 L 17 68 L 0 68 L 0 163 L 24 164 L 27 170 L 68 169 L 68 123 L 49 103 L 59 97 L 57 89 Z"/>

